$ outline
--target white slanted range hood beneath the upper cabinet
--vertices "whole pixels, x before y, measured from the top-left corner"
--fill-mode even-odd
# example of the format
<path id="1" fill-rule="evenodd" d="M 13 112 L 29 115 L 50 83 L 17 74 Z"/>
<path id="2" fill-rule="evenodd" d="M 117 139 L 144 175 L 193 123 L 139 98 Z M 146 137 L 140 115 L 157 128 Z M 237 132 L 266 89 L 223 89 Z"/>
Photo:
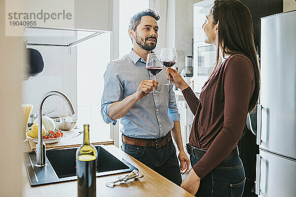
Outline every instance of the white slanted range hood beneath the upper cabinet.
<path id="1" fill-rule="evenodd" d="M 27 27 L 24 41 L 27 46 L 72 47 L 105 32 L 107 31 Z"/>

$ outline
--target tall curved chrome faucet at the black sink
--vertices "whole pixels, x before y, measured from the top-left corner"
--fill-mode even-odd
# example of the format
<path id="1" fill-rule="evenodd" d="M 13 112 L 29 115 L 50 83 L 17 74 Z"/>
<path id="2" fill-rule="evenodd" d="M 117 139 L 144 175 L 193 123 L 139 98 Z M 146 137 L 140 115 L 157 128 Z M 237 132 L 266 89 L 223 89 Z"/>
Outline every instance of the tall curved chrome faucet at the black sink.
<path id="1" fill-rule="evenodd" d="M 36 144 L 36 159 L 37 159 L 36 166 L 37 167 L 45 166 L 45 144 L 43 143 L 43 132 L 42 132 L 42 106 L 43 106 L 44 100 L 53 95 L 59 96 L 62 99 L 64 99 L 68 103 L 68 106 L 71 109 L 72 115 L 75 113 L 70 99 L 65 94 L 59 91 L 50 91 L 48 93 L 45 93 L 43 97 L 40 99 L 40 102 L 38 104 L 38 117 L 37 117 L 38 118 L 38 143 Z"/>

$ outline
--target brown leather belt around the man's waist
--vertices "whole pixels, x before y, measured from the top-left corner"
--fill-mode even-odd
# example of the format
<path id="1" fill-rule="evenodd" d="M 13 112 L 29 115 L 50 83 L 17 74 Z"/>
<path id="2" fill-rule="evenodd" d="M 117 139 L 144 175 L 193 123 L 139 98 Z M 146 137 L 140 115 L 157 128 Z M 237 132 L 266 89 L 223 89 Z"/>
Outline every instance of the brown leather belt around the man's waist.
<path id="1" fill-rule="evenodd" d="M 157 139 L 143 139 L 136 137 L 128 137 L 122 134 L 122 141 L 126 144 L 135 145 L 135 146 L 147 146 L 160 148 L 166 145 L 172 139 L 171 131 L 169 131 L 164 137 Z"/>

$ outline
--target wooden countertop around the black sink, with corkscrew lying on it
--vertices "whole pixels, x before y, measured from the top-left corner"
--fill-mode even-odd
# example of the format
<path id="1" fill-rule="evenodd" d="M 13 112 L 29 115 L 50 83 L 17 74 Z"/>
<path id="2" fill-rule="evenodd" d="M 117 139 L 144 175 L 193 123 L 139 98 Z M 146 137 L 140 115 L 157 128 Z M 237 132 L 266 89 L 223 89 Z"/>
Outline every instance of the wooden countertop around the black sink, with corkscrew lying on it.
<path id="1" fill-rule="evenodd" d="M 24 144 L 24 149 L 30 150 L 29 144 Z M 29 147 L 28 147 L 29 146 Z M 137 167 L 140 174 L 144 177 L 138 180 L 132 179 L 128 182 L 116 183 L 114 188 L 105 186 L 106 182 L 114 181 L 116 177 L 122 175 L 111 175 L 105 177 L 97 177 L 97 197 L 194 197 L 181 187 L 161 176 L 157 172 L 151 170 L 146 165 L 138 162 L 130 157 L 114 145 L 104 145 L 112 155 L 118 159 L 125 159 L 130 164 Z M 24 197 L 76 197 L 77 181 L 62 182 L 50 185 L 31 187 L 28 174 L 23 163 L 23 196 Z"/>

